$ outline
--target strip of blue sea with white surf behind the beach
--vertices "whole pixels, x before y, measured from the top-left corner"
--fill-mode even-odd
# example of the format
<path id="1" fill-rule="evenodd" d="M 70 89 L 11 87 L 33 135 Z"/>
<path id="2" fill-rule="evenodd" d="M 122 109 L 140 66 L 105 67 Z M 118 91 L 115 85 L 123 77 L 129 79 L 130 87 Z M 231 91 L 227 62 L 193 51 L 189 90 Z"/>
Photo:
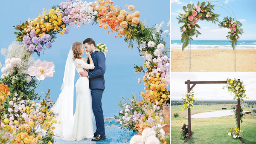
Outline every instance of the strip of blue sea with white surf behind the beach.
<path id="1" fill-rule="evenodd" d="M 188 46 L 186 48 L 188 48 Z M 181 41 L 171 40 L 171 48 L 181 49 L 182 48 Z M 233 49 L 233 48 L 229 40 L 191 40 L 191 49 Z M 236 44 L 236 49 L 256 49 L 256 40 L 238 40 Z"/>

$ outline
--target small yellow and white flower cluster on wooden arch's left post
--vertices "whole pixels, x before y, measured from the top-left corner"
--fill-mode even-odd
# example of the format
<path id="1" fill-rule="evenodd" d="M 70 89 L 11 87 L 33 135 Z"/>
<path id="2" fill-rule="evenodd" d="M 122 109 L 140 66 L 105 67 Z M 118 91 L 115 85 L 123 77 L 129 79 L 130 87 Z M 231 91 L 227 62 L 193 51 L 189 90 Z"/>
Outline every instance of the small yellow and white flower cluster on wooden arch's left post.
<path id="1" fill-rule="evenodd" d="M 182 110 L 183 109 L 190 109 L 191 107 L 193 107 L 194 108 L 194 106 L 193 106 L 193 103 L 195 102 L 195 100 L 197 100 L 196 98 L 194 98 L 194 91 L 193 90 L 191 90 L 188 94 L 182 94 L 183 95 L 183 97 L 185 97 L 185 98 L 181 98 L 182 100 L 183 100 L 183 105 L 181 105 L 180 107 L 182 107 L 183 106 L 183 108 L 182 108 Z"/>

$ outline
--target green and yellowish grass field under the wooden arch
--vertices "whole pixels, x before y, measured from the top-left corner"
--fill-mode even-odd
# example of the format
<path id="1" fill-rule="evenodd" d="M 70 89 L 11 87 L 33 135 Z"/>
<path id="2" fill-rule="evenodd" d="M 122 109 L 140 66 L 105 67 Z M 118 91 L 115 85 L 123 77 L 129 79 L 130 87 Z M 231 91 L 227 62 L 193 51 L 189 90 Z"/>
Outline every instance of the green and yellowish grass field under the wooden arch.
<path id="1" fill-rule="evenodd" d="M 191 109 L 191 113 L 201 113 L 209 111 L 221 110 L 222 107 L 230 109 L 231 104 L 211 105 L 211 106 L 195 106 Z M 187 110 L 182 111 L 180 106 L 171 107 L 171 143 L 184 144 L 184 140 L 180 139 L 181 127 L 183 124 L 188 124 Z M 252 111 L 252 109 L 244 107 L 244 110 Z M 178 113 L 179 118 L 174 118 L 173 113 Z M 227 134 L 229 128 L 237 127 L 234 116 L 226 116 L 220 118 L 196 118 L 191 119 L 191 130 L 194 134 L 191 136 L 187 144 L 241 144 L 238 138 L 230 138 Z M 241 123 L 241 130 L 243 130 L 242 138 L 245 144 L 256 144 L 256 116 L 245 115 L 243 123 Z"/>

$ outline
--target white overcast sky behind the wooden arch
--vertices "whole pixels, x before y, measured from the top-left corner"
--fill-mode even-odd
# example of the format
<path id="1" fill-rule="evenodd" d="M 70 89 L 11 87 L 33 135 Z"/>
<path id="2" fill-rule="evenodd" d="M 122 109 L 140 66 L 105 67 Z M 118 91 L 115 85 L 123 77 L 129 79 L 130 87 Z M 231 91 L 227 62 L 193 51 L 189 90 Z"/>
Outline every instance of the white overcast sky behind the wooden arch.
<path id="1" fill-rule="evenodd" d="M 227 78 L 240 79 L 245 86 L 248 101 L 256 101 L 256 72 L 171 72 L 171 100 L 181 100 L 182 93 L 187 93 L 185 81 L 226 81 Z M 192 84 L 193 85 L 193 84 Z M 190 87 L 192 86 L 190 85 Z M 227 89 L 222 89 L 226 84 L 196 84 L 195 98 L 198 101 L 224 101 L 233 100 Z M 246 100 L 246 99 L 245 99 Z"/>

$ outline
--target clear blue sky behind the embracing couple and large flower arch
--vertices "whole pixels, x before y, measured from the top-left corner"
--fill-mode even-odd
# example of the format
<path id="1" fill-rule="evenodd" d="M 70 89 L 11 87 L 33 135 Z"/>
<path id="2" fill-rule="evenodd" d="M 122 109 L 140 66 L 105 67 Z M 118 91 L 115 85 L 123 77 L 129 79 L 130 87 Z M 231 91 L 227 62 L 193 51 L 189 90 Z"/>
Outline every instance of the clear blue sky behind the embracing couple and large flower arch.
<path id="1" fill-rule="evenodd" d="M 114 6 L 134 5 L 135 11 L 140 11 L 139 19 L 145 22 L 146 26 L 153 26 L 165 22 L 163 30 L 170 30 L 166 24 L 170 20 L 170 1 L 169 0 L 112 0 Z M 25 22 L 28 18 L 38 17 L 42 14 L 42 9 L 50 9 L 53 5 L 58 5 L 65 0 L 3 0 L 0 9 L 0 49 L 8 48 L 9 44 L 15 40 L 15 29 L 12 26 Z M 90 1 L 87 1 L 90 2 Z M 93 2 L 93 1 L 92 1 Z M 131 98 L 131 93 L 135 96 L 139 92 L 145 91 L 143 83 L 138 84 L 138 78 L 143 73 L 134 72 L 134 64 L 143 66 L 144 61 L 138 54 L 137 47 L 128 49 L 128 44 L 124 38 L 114 38 L 116 34 L 108 34 L 108 30 L 99 28 L 98 25 L 87 24 L 80 29 L 71 28 L 67 35 L 57 35 L 55 43 L 51 49 L 47 49 L 44 55 L 38 58 L 33 55 L 35 60 L 52 61 L 55 64 L 55 73 L 53 77 L 47 77 L 41 81 L 40 86 L 35 90 L 39 95 L 41 92 L 47 92 L 51 89 L 50 95 L 53 101 L 58 98 L 61 92 L 61 84 L 64 76 L 67 54 L 74 42 L 83 42 L 86 38 L 93 38 L 97 43 L 105 43 L 108 47 L 106 56 L 105 83 L 106 89 L 102 97 L 102 109 L 104 117 L 113 117 L 118 114 L 117 101 L 121 96 Z M 170 35 L 164 37 L 166 46 L 170 46 Z M 85 57 L 85 56 L 84 56 Z M 5 58 L 0 55 L 0 62 L 4 63 Z M 75 78 L 78 79 L 78 74 Z M 44 97 L 44 95 L 42 95 Z M 74 107 L 76 98 L 74 98 Z M 114 107 L 116 106 L 116 107 Z"/>

